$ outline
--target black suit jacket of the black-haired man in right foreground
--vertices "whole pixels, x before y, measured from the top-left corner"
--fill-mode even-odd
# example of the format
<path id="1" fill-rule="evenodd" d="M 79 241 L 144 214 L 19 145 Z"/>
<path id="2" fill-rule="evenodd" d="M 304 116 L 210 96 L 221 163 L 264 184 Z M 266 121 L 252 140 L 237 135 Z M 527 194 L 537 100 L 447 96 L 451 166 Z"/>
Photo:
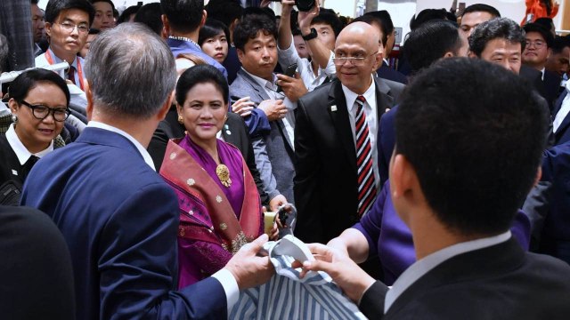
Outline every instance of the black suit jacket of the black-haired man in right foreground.
<path id="1" fill-rule="evenodd" d="M 383 319 L 567 319 L 568 275 L 566 263 L 524 252 L 511 237 L 445 260 L 396 298 Z M 365 316 L 382 317 L 386 292 L 376 284 L 364 293 Z"/>

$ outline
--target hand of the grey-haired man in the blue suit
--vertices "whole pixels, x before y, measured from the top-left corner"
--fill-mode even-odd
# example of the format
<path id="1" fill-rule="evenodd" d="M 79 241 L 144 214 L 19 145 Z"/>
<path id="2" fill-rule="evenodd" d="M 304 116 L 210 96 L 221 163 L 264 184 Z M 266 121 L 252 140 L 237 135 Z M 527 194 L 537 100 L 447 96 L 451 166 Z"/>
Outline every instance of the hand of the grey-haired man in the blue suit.
<path id="1" fill-rule="evenodd" d="M 275 268 L 269 257 L 260 257 L 257 253 L 267 242 L 267 235 L 263 234 L 249 244 L 244 244 L 239 252 L 225 265 L 225 269 L 232 273 L 241 290 L 265 284 L 275 274 Z"/>

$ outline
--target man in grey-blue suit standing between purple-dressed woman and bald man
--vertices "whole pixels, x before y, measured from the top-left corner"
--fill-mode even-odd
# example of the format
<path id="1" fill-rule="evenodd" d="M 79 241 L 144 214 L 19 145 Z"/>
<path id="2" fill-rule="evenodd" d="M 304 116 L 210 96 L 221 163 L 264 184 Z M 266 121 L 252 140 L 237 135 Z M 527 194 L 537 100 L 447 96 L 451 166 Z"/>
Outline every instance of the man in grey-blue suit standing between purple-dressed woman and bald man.
<path id="1" fill-rule="evenodd" d="M 233 110 L 248 124 L 270 207 L 293 203 L 295 104 L 278 92 L 277 28 L 265 15 L 250 14 L 233 31 L 242 68 L 230 86 Z M 239 108 L 236 108 L 239 106 Z"/>

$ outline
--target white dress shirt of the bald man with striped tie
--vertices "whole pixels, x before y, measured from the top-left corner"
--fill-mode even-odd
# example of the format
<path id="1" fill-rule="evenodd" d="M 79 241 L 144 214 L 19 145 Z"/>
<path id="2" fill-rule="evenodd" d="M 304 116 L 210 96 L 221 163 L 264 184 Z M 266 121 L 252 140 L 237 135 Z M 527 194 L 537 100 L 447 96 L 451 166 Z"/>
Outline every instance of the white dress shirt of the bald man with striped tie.
<path id="1" fill-rule="evenodd" d="M 372 76 L 371 76 L 372 77 Z M 356 128 L 355 128 L 355 117 L 356 108 L 354 108 L 354 101 L 358 98 L 358 94 L 350 91 L 346 86 L 342 85 L 342 92 L 345 93 L 346 107 L 348 108 L 348 119 L 350 121 L 350 129 L 353 132 L 354 147 L 356 146 Z M 362 94 L 366 103 L 362 106 L 364 108 L 364 115 L 366 115 L 366 123 L 368 124 L 368 137 L 371 140 L 371 153 L 372 153 L 372 170 L 374 172 L 374 180 L 376 182 L 376 189 L 379 191 L 380 175 L 378 170 L 378 147 L 376 143 L 376 137 L 378 133 L 378 119 L 377 119 L 377 107 L 376 107 L 376 84 L 374 83 L 374 78 L 372 77 L 371 86 L 368 87 L 366 92 Z"/>

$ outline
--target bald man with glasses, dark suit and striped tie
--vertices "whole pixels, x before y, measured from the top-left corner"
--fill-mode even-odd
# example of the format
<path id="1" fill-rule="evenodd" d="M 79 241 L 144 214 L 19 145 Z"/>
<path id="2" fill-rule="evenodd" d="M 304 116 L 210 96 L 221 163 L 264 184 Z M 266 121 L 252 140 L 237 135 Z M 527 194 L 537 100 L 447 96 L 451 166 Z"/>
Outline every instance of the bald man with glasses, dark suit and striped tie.
<path id="1" fill-rule="evenodd" d="M 296 236 L 326 244 L 367 212 L 379 191 L 379 118 L 404 85 L 379 79 L 378 31 L 354 22 L 335 44 L 337 79 L 298 100 Z"/>

